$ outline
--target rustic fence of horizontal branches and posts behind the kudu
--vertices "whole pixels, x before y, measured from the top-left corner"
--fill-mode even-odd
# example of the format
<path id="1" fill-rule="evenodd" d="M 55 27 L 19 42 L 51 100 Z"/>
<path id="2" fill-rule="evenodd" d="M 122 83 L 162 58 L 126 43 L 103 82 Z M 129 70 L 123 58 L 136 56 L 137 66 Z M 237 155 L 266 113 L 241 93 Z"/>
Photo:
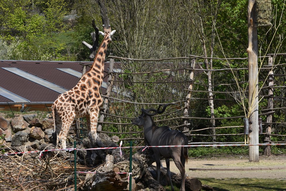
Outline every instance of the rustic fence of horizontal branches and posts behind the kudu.
<path id="1" fill-rule="evenodd" d="M 286 109 L 285 55 L 268 54 L 259 57 L 261 62 L 259 116 L 263 118 L 263 133 L 260 140 L 263 142 L 286 142 L 286 135 L 281 134 L 285 129 L 280 128 L 286 124 L 285 117 L 279 117 L 285 114 L 284 109 Z M 158 125 L 164 124 L 180 129 L 189 137 L 189 144 L 243 143 L 243 141 L 213 141 L 210 137 L 225 137 L 224 140 L 235 136 L 244 137 L 243 118 L 247 111 L 241 109 L 240 112 L 233 113 L 242 115 L 227 116 L 230 113 L 225 114 L 225 117 L 217 117 L 217 113 L 214 113 L 215 117 L 211 118 L 207 110 L 210 92 L 214 95 L 212 100 L 216 111 L 223 105 L 231 108 L 247 99 L 247 58 L 205 58 L 195 55 L 166 59 L 130 59 L 115 56 L 108 58 L 110 59 L 108 88 L 106 95 L 102 95 L 104 110 L 99 120 L 99 132 L 120 135 L 121 140 L 142 140 L 142 131 L 131 124 L 132 118 L 141 113 L 140 108 L 157 108 L 159 104 L 173 102 L 178 103 L 180 107 L 169 108 L 166 114 L 156 116 L 155 122 Z M 113 69 L 114 59 L 121 61 L 121 68 Z M 205 69 L 204 63 L 201 63 L 202 59 L 213 59 L 215 63 L 213 69 Z M 240 67 L 232 68 L 232 66 Z M 215 78 L 212 79 L 211 91 L 208 90 L 209 84 L 206 83 L 205 74 L 208 71 L 213 72 Z M 244 96 L 243 99 L 240 99 L 241 95 Z M 220 112 L 220 116 L 224 115 L 223 111 Z M 278 119 L 273 119 L 274 114 Z M 234 119 L 240 122 L 236 121 L 237 125 L 233 126 L 223 126 L 220 122 Z M 218 125 L 211 126 L 211 120 L 216 121 Z M 213 134 L 212 129 L 237 130 L 232 134 Z M 265 154 L 269 152 L 270 146 L 265 149 Z"/>

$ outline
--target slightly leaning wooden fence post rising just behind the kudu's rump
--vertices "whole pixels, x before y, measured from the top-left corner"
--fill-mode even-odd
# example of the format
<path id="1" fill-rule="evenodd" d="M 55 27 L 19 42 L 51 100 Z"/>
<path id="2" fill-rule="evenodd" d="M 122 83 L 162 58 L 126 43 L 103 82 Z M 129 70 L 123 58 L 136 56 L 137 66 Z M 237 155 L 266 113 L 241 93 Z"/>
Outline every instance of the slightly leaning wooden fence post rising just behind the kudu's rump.
<path id="1" fill-rule="evenodd" d="M 196 60 L 195 59 L 192 59 L 191 61 L 191 68 L 194 69 L 195 68 L 195 64 L 196 64 Z M 187 93 L 187 96 L 186 96 L 186 102 L 185 102 L 185 109 L 184 109 L 184 113 L 183 113 L 183 116 L 184 117 L 187 117 L 189 116 L 189 106 L 190 106 L 190 98 L 192 96 L 192 89 L 193 89 L 193 79 L 194 79 L 194 70 L 191 70 L 190 71 L 190 74 L 189 74 L 189 81 L 190 84 L 189 84 L 189 91 Z M 183 121 L 183 124 L 185 124 L 185 126 L 183 127 L 183 131 L 189 131 L 189 128 L 187 128 L 187 124 L 189 123 L 189 121 L 187 119 L 184 119 Z"/>

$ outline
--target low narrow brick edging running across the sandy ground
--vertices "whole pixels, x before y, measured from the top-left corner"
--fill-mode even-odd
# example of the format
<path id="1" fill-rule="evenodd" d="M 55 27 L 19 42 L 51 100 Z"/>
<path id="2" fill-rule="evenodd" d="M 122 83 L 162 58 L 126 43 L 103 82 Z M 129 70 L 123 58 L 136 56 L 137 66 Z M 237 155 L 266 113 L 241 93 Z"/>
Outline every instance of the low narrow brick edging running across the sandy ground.
<path id="1" fill-rule="evenodd" d="M 189 168 L 189 170 L 247 171 L 247 170 L 286 170 L 286 167 L 242 167 L 242 168 Z"/>

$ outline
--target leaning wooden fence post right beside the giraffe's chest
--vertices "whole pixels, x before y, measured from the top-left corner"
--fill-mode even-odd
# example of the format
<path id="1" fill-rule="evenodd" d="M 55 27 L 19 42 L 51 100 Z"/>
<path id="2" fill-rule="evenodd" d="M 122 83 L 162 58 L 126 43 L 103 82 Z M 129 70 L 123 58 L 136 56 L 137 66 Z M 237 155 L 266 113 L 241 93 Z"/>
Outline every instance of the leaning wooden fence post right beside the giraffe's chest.
<path id="1" fill-rule="evenodd" d="M 107 88 L 106 88 L 106 96 L 108 96 L 108 97 L 110 96 L 110 93 L 111 93 L 112 88 L 113 88 L 113 81 L 112 81 L 113 80 L 113 74 L 112 74 L 113 66 L 114 66 L 114 59 L 111 58 L 110 62 L 109 62 L 109 74 L 108 74 L 108 81 L 107 81 Z M 108 98 L 105 98 L 103 100 L 103 112 L 106 113 L 107 109 L 108 109 Z M 105 116 L 103 114 L 101 114 L 100 118 L 99 118 L 99 122 L 103 122 L 104 117 Z M 98 131 L 102 130 L 101 124 L 98 125 L 97 130 Z"/>

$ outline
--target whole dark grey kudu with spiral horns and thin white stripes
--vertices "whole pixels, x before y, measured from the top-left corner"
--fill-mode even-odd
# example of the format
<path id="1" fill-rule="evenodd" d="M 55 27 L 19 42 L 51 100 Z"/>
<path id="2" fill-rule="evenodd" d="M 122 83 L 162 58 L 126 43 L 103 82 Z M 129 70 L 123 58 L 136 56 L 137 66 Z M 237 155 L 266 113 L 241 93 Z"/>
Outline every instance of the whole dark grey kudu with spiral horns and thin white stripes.
<path id="1" fill-rule="evenodd" d="M 144 140 L 147 146 L 170 146 L 170 145 L 187 145 L 188 139 L 185 134 L 178 130 L 171 130 L 168 126 L 158 127 L 155 125 L 151 116 L 161 114 L 165 111 L 166 107 L 173 103 L 162 105 L 158 109 L 142 110 L 142 114 L 132 120 L 132 124 L 144 128 Z M 176 105 L 176 104 L 173 104 Z M 154 113 L 149 113 L 153 111 Z M 174 190 L 172 179 L 170 175 L 170 158 L 173 158 L 175 165 L 180 170 L 182 176 L 181 191 L 185 190 L 185 162 L 188 161 L 188 147 L 151 147 L 154 152 L 154 159 L 157 166 L 157 181 L 160 178 L 160 158 L 163 156 L 166 159 L 167 175 L 169 177 L 171 188 Z"/>

